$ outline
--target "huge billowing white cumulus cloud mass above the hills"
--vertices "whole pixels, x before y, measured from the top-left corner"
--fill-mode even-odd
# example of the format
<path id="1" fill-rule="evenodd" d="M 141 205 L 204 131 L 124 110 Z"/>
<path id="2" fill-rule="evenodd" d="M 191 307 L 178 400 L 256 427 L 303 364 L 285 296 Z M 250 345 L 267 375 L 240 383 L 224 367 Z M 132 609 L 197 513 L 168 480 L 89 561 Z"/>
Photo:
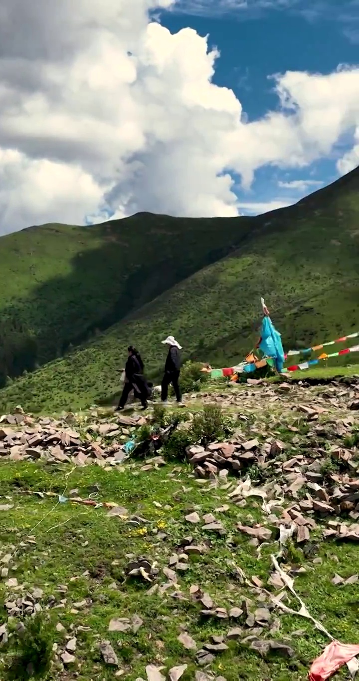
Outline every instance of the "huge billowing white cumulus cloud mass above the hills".
<path id="1" fill-rule="evenodd" d="M 249 188 L 263 165 L 304 168 L 359 126 L 357 67 L 275 76 L 279 106 L 247 123 L 212 82 L 206 37 L 150 21 L 173 5 L 2 0 L 0 233 L 138 210 L 237 215 L 233 177 Z"/>

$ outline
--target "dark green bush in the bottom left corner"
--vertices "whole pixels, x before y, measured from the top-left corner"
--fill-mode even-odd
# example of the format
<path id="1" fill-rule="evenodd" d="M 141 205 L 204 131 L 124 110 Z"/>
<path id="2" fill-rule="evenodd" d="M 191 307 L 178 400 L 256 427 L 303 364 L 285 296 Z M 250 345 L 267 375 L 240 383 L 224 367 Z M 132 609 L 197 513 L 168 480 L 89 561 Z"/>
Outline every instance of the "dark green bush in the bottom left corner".
<path id="1" fill-rule="evenodd" d="M 50 673 L 54 629 L 43 613 L 29 617 L 11 637 L 16 652 L 5 669 L 8 681 L 46 679 Z"/>

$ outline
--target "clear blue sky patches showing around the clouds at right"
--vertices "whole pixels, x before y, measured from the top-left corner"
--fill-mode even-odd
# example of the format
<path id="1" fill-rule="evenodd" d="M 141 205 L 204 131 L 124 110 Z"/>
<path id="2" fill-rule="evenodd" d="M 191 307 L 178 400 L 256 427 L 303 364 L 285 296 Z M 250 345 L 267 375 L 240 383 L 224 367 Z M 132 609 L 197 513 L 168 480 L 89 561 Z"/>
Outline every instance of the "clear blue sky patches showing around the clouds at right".
<path id="1" fill-rule="evenodd" d="M 160 14 L 160 22 L 171 33 L 192 27 L 209 36 L 209 47 L 220 50 L 213 82 L 233 89 L 250 121 L 279 106 L 273 74 L 330 74 L 359 63 L 359 0 L 180 0 Z M 352 145 L 349 134 L 329 158 L 306 169 L 264 166 L 250 191 L 242 191 L 236 178 L 236 193 L 247 204 L 241 212 L 256 212 L 258 202 L 299 200 L 332 182 L 339 176 L 337 159 Z"/>

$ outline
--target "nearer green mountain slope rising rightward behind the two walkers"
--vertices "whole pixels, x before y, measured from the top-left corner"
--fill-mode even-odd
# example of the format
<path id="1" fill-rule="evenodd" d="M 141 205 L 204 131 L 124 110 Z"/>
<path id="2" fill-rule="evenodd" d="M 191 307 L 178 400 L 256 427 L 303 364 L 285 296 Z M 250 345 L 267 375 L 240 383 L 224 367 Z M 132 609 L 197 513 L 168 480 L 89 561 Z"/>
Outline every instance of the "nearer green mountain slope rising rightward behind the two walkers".
<path id="1" fill-rule="evenodd" d="M 229 364 L 254 343 L 260 295 L 287 348 L 357 330 L 359 170 L 295 206 L 248 220 L 251 229 L 246 223 L 240 249 L 144 304 L 92 343 L 9 385 L 0 393 L 0 407 L 88 405 L 118 388 L 116 370 L 129 343 L 141 349 L 148 370 L 158 372 L 160 340 L 169 333 L 179 338 L 186 357 Z M 201 239 L 199 223 L 192 222 L 193 242 Z"/>

